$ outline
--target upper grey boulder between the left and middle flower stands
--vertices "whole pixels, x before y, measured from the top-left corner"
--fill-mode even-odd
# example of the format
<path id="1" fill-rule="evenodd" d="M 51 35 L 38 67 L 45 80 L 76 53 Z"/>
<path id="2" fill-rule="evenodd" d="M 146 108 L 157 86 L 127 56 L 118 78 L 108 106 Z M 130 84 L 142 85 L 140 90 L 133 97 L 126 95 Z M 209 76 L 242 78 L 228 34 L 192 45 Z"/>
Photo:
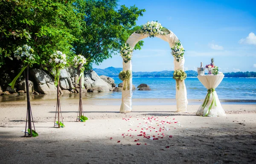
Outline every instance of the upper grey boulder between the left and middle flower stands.
<path id="1" fill-rule="evenodd" d="M 47 73 L 45 73 L 44 71 L 42 71 L 40 69 L 32 69 L 30 71 L 30 74 L 31 74 L 32 78 L 35 79 L 35 82 L 38 85 L 52 82 L 52 78 Z"/>

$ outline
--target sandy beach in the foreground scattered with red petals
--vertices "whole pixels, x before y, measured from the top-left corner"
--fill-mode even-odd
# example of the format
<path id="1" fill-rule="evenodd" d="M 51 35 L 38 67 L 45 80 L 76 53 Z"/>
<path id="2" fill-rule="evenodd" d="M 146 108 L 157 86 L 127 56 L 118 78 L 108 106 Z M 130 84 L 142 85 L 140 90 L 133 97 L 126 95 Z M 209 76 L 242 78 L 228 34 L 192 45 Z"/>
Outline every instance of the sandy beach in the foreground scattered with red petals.
<path id="1" fill-rule="evenodd" d="M 256 162 L 256 105 L 224 103 L 225 117 L 195 115 L 202 100 L 176 113 L 173 99 L 61 99 L 64 128 L 53 128 L 55 99 L 32 100 L 36 138 L 24 138 L 26 101 L 0 103 L 1 164 L 247 164 Z"/>

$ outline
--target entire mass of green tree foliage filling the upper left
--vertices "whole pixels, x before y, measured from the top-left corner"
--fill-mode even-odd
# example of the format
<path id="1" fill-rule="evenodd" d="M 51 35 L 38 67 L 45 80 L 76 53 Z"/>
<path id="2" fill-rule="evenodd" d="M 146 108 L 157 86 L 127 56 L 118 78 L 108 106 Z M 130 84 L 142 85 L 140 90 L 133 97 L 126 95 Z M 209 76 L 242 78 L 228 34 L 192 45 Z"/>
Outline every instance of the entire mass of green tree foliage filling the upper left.
<path id="1" fill-rule="evenodd" d="M 13 55 L 24 44 L 35 50 L 41 67 L 55 51 L 81 54 L 89 65 L 99 64 L 119 52 L 139 28 L 136 20 L 143 12 L 136 6 L 119 6 L 117 0 L 2 0 L 0 71 L 20 68 L 22 63 Z M 141 46 L 142 41 L 135 49 Z"/>

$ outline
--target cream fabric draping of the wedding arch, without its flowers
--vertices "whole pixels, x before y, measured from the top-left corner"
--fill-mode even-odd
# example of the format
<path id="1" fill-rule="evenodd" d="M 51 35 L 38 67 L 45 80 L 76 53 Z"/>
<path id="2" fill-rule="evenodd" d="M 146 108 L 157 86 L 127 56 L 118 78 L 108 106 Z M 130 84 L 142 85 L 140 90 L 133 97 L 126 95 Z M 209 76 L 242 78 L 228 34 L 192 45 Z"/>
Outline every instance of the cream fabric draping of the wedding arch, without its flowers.
<path id="1" fill-rule="evenodd" d="M 168 35 L 158 35 L 156 37 L 166 41 L 169 43 L 169 46 L 172 48 L 172 45 L 178 40 L 178 38 L 176 37 L 176 35 L 170 31 L 170 34 Z M 126 43 L 129 44 L 129 46 L 134 49 L 134 46 L 140 41 L 143 40 L 144 38 L 148 37 L 148 35 L 144 35 L 144 34 L 137 34 L 137 33 L 133 33 L 128 40 L 126 41 Z M 180 60 L 179 62 L 177 62 L 176 60 L 174 60 L 174 70 L 177 69 L 181 69 L 184 71 L 184 58 L 182 60 Z M 128 61 L 127 63 L 125 63 L 123 61 L 123 70 L 130 70 L 132 72 L 132 64 L 131 64 L 131 60 Z M 132 77 L 132 75 L 131 75 Z M 124 80 L 123 83 L 127 83 L 127 80 Z M 178 84 L 177 84 L 178 83 Z M 131 112 L 132 110 L 132 78 L 130 78 L 128 80 L 128 85 L 130 85 L 130 87 L 126 87 L 125 90 L 122 90 L 122 104 L 120 107 L 120 112 Z M 179 89 L 177 88 L 177 86 L 179 86 Z M 128 89 L 129 88 L 129 89 Z M 187 92 L 186 92 L 186 86 L 184 81 L 176 81 L 176 101 L 177 101 L 177 112 L 186 112 L 186 107 L 188 104 L 187 101 Z"/>

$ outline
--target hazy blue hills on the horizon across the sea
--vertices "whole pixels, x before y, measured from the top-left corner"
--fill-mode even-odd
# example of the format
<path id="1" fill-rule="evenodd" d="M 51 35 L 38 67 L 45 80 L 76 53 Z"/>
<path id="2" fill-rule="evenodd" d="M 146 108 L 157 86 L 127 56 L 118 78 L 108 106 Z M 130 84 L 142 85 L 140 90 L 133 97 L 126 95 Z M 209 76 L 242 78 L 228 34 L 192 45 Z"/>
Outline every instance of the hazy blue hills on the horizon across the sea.
<path id="1" fill-rule="evenodd" d="M 122 71 L 122 68 L 108 67 L 105 69 L 93 69 L 99 76 L 105 75 L 109 77 L 118 77 L 119 72 Z M 160 72 L 132 72 L 133 77 L 172 77 L 174 71 L 160 71 Z M 196 77 L 198 75 L 195 71 L 185 71 L 187 77 Z"/>

